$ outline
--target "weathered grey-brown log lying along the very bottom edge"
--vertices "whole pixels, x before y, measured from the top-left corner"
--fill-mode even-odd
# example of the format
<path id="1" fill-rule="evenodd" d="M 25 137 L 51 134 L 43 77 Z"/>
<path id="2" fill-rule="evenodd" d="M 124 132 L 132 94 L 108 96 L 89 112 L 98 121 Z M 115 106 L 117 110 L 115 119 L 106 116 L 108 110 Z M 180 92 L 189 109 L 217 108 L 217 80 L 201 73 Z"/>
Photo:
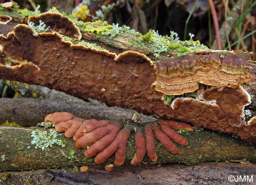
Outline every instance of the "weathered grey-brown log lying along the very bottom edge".
<path id="1" fill-rule="evenodd" d="M 242 161 L 241 161 L 242 162 Z M 89 172 L 73 173 L 70 170 L 36 170 L 33 172 L 0 173 L 0 180 L 6 184 L 200 184 L 219 185 L 234 183 L 236 180 L 246 184 L 255 182 L 255 165 L 229 162 L 207 162 L 198 165 L 123 165 L 112 172 L 106 172 L 103 166 L 93 166 Z M 231 176 L 229 178 L 229 176 Z M 234 178 L 233 178 L 234 177 Z M 244 178 L 245 177 L 245 178 Z M 233 179 L 232 179 L 233 178 Z M 244 180 L 242 181 L 242 179 Z M 128 180 L 129 179 L 129 180 Z M 236 182 L 235 181 L 235 182 Z M 230 184 L 231 184 L 230 183 Z"/>

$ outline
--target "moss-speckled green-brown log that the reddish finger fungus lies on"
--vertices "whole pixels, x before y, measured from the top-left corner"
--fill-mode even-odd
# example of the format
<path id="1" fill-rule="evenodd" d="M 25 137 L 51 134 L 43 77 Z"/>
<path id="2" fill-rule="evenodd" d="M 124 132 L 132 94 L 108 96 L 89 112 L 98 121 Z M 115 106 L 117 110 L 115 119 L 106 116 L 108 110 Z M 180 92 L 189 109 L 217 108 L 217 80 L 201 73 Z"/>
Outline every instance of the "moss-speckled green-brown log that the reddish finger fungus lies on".
<path id="1" fill-rule="evenodd" d="M 53 145 L 44 151 L 31 144 L 31 132 L 34 128 L 0 127 L 0 171 L 22 171 L 36 169 L 76 169 L 80 166 L 96 165 L 94 158 L 86 158 L 84 149 L 78 149 L 72 138 L 64 134 L 57 139 L 65 141 L 67 145 L 61 147 Z M 47 130 L 49 129 L 42 129 Z M 182 133 L 190 142 L 187 146 L 177 144 L 178 154 L 171 154 L 158 141 L 155 141 L 158 160 L 152 162 L 147 156 L 145 164 L 158 164 L 166 162 L 193 165 L 205 161 L 234 161 L 246 159 L 256 161 L 256 144 L 249 145 L 231 134 L 220 134 L 209 130 Z M 134 136 L 127 143 L 125 163 L 130 164 L 134 154 Z M 194 142 L 193 142 L 194 141 Z M 71 151 L 74 150 L 74 155 Z M 114 157 L 110 157 L 105 165 L 113 164 Z"/>

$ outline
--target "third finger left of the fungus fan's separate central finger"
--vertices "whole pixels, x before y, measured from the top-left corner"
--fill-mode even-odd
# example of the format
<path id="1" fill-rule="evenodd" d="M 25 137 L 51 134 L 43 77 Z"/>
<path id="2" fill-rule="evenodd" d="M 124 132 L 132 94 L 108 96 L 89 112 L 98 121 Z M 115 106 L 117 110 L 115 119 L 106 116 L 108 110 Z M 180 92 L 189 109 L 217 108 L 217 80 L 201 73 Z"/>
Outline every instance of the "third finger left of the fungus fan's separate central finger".
<path id="1" fill-rule="evenodd" d="M 120 128 L 114 127 L 111 128 L 113 125 L 109 125 L 110 127 L 110 133 L 105 135 L 103 138 L 101 138 L 99 141 L 93 143 L 88 149 L 84 150 L 84 155 L 86 157 L 93 157 L 98 152 L 104 150 L 107 146 L 109 146 L 114 139 L 116 138 Z"/>

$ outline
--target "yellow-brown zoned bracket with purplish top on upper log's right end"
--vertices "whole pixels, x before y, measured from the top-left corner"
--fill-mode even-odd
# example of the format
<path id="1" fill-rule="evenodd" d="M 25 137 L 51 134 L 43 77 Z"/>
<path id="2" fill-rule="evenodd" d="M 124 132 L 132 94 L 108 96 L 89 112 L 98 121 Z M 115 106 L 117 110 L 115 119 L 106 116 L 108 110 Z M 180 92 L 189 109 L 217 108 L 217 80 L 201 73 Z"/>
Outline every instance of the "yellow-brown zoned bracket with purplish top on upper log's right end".
<path id="1" fill-rule="evenodd" d="M 195 92 L 199 83 L 237 88 L 249 82 L 251 75 L 245 70 L 250 53 L 221 51 L 196 52 L 169 60 L 158 58 L 158 80 L 155 89 L 167 95 Z"/>

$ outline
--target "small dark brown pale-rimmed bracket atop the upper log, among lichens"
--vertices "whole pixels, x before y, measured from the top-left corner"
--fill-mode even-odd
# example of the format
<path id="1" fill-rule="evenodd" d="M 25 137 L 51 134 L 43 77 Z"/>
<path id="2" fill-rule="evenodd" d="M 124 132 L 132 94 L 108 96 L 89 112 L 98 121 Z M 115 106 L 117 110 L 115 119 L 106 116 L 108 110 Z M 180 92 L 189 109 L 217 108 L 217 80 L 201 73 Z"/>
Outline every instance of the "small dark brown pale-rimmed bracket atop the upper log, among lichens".
<path id="1" fill-rule="evenodd" d="M 82 34 L 80 29 L 73 23 L 69 17 L 63 16 L 59 12 L 45 12 L 38 16 L 30 16 L 28 22 L 39 25 L 39 21 L 43 21 L 46 26 L 50 26 L 50 31 L 58 32 L 62 35 L 80 40 Z"/>

